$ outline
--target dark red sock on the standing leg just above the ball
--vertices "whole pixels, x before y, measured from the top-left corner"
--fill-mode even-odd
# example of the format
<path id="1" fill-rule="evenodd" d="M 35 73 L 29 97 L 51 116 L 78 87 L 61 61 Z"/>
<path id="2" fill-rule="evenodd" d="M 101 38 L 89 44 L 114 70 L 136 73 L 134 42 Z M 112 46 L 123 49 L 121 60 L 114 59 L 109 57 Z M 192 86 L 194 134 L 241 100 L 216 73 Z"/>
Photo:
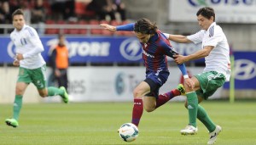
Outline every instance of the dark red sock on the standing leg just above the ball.
<path id="1" fill-rule="evenodd" d="M 135 98 L 133 103 L 133 109 L 132 109 L 131 123 L 138 126 L 142 115 L 143 115 L 143 99 Z"/>

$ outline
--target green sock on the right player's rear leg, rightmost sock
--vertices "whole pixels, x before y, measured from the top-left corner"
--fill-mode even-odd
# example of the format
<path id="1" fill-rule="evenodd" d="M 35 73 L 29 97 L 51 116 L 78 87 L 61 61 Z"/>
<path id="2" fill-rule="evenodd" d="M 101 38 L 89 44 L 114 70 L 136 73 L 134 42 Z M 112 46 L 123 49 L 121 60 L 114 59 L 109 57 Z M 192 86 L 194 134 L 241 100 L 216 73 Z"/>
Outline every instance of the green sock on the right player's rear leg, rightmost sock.
<path id="1" fill-rule="evenodd" d="M 206 125 L 209 132 L 212 132 L 215 130 L 215 124 L 212 122 L 210 117 L 207 114 L 207 111 L 201 107 L 201 105 L 198 105 L 197 108 L 197 118 L 198 120 L 201 120 L 201 122 Z"/>

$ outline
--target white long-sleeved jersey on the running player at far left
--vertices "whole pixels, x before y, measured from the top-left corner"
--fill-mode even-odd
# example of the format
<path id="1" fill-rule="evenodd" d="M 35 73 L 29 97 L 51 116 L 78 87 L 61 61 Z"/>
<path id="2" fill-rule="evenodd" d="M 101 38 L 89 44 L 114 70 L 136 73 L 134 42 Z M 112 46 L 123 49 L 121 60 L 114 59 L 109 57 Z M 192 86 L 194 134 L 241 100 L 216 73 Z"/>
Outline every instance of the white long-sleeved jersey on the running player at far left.
<path id="1" fill-rule="evenodd" d="M 23 55 L 20 67 L 26 69 L 38 69 L 45 64 L 41 55 L 44 51 L 38 32 L 31 26 L 24 25 L 20 31 L 11 32 L 10 39 L 15 43 L 16 53 Z"/>

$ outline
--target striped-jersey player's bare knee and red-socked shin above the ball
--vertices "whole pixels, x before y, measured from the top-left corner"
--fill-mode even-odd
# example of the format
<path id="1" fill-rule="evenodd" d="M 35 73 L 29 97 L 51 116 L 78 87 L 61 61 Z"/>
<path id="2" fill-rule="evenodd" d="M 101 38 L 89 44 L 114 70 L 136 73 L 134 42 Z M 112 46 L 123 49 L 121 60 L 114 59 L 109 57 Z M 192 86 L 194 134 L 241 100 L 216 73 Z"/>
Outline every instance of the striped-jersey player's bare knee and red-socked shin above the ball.
<path id="1" fill-rule="evenodd" d="M 142 81 L 133 91 L 134 103 L 131 123 L 134 125 L 139 125 L 143 115 L 143 96 L 148 92 L 150 92 L 150 86 L 145 81 Z"/>

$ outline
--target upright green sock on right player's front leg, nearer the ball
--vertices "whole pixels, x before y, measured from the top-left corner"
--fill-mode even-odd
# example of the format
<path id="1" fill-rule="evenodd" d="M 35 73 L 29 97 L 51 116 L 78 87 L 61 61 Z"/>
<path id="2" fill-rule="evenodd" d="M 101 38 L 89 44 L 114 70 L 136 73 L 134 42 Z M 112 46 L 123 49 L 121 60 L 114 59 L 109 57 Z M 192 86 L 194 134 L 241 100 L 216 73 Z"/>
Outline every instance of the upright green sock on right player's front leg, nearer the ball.
<path id="1" fill-rule="evenodd" d="M 195 92 L 187 93 L 187 98 L 189 109 L 189 125 L 193 125 L 194 127 L 196 127 L 198 98 Z"/>

